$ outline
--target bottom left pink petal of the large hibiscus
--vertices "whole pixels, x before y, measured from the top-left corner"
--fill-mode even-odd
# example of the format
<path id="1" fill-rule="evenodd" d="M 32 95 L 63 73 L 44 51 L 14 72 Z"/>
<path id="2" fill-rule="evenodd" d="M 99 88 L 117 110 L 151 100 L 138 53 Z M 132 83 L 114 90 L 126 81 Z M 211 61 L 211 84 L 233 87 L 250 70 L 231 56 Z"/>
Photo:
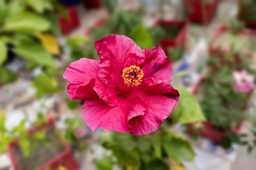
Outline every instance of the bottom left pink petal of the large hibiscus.
<path id="1" fill-rule="evenodd" d="M 92 131 L 104 128 L 106 131 L 129 132 L 125 100 L 119 100 L 117 106 L 108 106 L 101 99 L 85 99 L 82 117 Z"/>

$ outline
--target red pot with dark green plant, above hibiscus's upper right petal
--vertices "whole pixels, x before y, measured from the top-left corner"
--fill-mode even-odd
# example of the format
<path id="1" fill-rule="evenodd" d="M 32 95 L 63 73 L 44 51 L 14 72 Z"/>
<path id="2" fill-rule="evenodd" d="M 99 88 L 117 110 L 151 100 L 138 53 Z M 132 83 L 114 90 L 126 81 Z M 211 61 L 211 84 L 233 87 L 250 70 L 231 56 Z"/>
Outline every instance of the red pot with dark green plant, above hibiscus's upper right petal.
<path id="1" fill-rule="evenodd" d="M 158 20 L 149 33 L 154 44 L 159 44 L 171 61 L 180 60 L 186 46 L 188 22 Z"/>

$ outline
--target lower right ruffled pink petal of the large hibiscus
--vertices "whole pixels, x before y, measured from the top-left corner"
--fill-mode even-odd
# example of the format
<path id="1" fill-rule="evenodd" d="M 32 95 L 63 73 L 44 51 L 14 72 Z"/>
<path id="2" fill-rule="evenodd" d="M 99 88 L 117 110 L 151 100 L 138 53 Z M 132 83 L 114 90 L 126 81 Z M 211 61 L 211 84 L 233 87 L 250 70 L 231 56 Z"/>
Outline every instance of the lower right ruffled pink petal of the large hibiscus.
<path id="1" fill-rule="evenodd" d="M 144 115 L 133 117 L 128 121 L 133 135 L 147 135 L 157 130 L 173 109 L 179 97 L 167 97 L 165 95 L 141 95 L 147 103 L 147 111 Z"/>

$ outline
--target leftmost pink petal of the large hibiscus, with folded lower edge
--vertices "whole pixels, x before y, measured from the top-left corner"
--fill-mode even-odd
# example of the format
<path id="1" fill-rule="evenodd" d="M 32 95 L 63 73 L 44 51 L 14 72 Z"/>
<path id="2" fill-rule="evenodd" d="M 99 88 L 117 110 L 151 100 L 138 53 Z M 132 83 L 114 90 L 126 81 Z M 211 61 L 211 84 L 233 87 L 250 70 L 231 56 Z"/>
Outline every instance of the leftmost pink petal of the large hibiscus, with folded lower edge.
<path id="1" fill-rule="evenodd" d="M 109 106 L 118 103 L 117 89 L 107 87 L 98 76 L 99 61 L 81 58 L 67 67 L 63 78 L 70 84 L 67 93 L 70 99 L 97 98 L 103 99 Z"/>

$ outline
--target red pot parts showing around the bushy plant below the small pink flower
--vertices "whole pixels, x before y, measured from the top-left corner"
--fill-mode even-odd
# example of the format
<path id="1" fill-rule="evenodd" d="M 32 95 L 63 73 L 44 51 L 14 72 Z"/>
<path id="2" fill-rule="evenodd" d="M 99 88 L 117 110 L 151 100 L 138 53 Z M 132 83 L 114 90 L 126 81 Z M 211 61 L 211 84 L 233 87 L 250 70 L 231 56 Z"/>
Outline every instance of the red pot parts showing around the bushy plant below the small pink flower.
<path id="1" fill-rule="evenodd" d="M 197 84 L 195 84 L 192 94 L 196 95 L 199 89 L 200 82 L 204 80 L 204 77 L 201 77 L 200 80 L 198 81 Z M 201 127 L 200 128 L 195 128 L 194 124 L 188 124 L 187 127 L 189 129 L 189 135 L 192 134 L 197 134 L 201 137 L 207 138 L 217 144 L 221 143 L 222 137 L 227 136 L 227 132 L 218 130 L 215 128 L 213 122 L 206 122 L 206 121 L 201 121 Z M 242 123 L 241 121 L 240 125 L 237 128 L 231 129 L 231 132 L 234 132 L 236 134 L 239 134 L 242 129 Z"/>

